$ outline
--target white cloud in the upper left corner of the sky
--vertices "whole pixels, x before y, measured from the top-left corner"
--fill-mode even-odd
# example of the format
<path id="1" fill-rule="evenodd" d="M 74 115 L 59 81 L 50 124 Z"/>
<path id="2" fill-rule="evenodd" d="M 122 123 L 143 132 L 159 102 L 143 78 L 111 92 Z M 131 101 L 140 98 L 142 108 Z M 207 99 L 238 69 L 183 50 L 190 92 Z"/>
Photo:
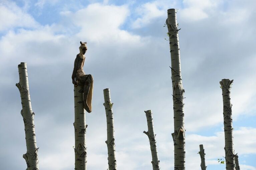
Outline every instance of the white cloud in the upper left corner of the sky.
<path id="1" fill-rule="evenodd" d="M 15 27 L 37 28 L 39 24 L 14 2 L 0 3 L 0 31 Z"/>

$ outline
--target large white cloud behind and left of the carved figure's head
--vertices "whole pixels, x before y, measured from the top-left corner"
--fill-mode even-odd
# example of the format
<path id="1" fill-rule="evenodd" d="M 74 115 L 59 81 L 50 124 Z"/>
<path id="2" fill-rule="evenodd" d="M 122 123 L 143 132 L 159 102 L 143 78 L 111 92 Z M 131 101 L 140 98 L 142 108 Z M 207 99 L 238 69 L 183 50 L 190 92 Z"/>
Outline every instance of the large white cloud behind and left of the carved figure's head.
<path id="1" fill-rule="evenodd" d="M 33 65 L 70 61 L 69 56 L 77 53 L 75 41 L 94 42 L 101 46 L 102 50 L 107 46 L 126 46 L 125 49 L 115 48 L 119 54 L 129 51 L 128 47 L 140 48 L 148 44 L 147 41 L 143 43 L 140 36 L 119 28 L 129 15 L 127 6 L 91 4 L 75 13 L 63 11 L 61 15 L 67 25 L 52 24 L 37 27 L 36 30 L 8 31 L 0 41 L 0 55 L 3 56 L 1 65 L 17 61 L 30 61 Z M 71 35 L 71 41 L 69 30 L 74 27 L 80 27 L 80 30 L 75 36 Z M 88 47 L 90 48 L 90 45 Z M 15 50 L 11 50 L 13 48 Z M 17 53 L 19 55 L 16 55 Z"/>

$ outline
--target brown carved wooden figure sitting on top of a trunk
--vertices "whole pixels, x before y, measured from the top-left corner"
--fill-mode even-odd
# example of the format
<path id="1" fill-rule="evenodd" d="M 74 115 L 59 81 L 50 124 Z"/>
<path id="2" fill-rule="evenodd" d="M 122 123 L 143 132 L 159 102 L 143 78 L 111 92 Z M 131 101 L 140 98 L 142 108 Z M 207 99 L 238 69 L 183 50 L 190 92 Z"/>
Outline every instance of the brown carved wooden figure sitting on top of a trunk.
<path id="1" fill-rule="evenodd" d="M 85 52 L 87 51 L 86 42 L 82 43 L 80 41 L 79 51 L 80 53 L 76 55 L 74 62 L 74 70 L 72 74 L 72 83 L 74 86 L 83 86 L 83 108 L 90 113 L 92 110 L 91 100 L 93 92 L 93 78 L 91 75 L 86 75 L 83 71 L 83 65 L 85 61 Z"/>

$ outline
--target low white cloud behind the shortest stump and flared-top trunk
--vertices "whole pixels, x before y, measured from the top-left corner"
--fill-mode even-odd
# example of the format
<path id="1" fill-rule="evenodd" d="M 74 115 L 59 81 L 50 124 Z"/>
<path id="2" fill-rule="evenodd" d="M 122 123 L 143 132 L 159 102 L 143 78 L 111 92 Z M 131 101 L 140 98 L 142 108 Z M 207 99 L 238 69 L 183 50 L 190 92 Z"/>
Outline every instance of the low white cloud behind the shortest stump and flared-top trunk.
<path id="1" fill-rule="evenodd" d="M 256 128 L 240 127 L 238 130 L 233 131 L 234 136 L 234 150 L 239 156 L 246 154 L 256 154 Z M 225 156 L 224 146 L 225 137 L 224 132 L 217 132 L 215 136 L 201 136 L 197 134 L 191 134 L 186 136 L 186 148 L 188 153 L 188 159 L 195 156 L 199 150 L 199 145 L 203 144 L 207 164 L 216 164 L 212 159 L 217 160 Z M 200 157 L 196 158 L 200 161 Z M 194 159 L 192 159 L 194 161 Z M 217 161 L 216 161 L 217 162 Z"/>

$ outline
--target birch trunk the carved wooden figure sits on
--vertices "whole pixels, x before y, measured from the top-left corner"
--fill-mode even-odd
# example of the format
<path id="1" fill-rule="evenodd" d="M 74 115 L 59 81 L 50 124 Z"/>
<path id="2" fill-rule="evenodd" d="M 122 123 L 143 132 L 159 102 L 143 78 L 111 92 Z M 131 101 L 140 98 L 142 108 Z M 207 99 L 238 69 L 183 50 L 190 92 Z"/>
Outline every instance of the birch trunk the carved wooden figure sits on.
<path id="1" fill-rule="evenodd" d="M 75 170 L 86 170 L 86 123 L 83 108 L 83 86 L 74 87 L 75 100 Z"/>

